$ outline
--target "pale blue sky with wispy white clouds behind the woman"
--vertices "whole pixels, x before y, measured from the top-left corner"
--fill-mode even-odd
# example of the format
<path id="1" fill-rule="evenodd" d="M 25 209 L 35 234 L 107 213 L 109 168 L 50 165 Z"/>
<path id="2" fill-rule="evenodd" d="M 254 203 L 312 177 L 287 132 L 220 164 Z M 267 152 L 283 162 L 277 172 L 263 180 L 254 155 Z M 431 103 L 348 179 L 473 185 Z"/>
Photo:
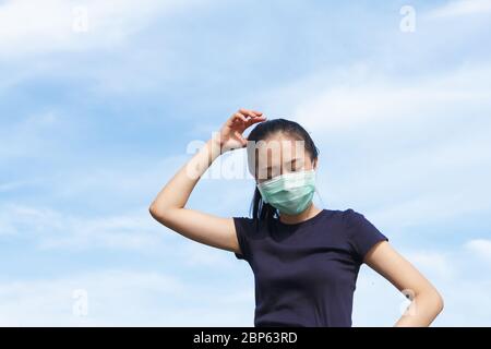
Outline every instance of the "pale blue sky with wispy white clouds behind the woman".
<path id="1" fill-rule="evenodd" d="M 435 326 L 491 325 L 491 1 L 41 3 L 0 1 L 1 325 L 252 326 L 247 263 L 147 212 L 240 107 L 308 129 L 318 204 L 423 272 Z M 203 179 L 189 207 L 247 216 L 253 189 Z M 355 294 L 355 326 L 400 315 L 367 266 Z"/>

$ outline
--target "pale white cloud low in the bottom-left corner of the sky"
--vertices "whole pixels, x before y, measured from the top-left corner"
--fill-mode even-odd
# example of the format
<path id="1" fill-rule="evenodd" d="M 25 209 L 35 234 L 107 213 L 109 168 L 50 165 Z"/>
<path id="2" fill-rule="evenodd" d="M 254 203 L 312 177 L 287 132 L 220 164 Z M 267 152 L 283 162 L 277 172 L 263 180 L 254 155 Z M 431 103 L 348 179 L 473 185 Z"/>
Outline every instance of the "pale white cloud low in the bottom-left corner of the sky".
<path id="1" fill-rule="evenodd" d="M 87 292 L 88 316 L 73 313 L 73 291 Z M 2 326 L 100 325 L 105 321 L 123 323 L 135 311 L 141 298 L 152 292 L 163 297 L 178 294 L 180 280 L 156 273 L 105 270 L 68 278 L 4 281 L 0 284 Z M 136 313 L 137 314 L 137 313 Z M 128 318 L 127 318 L 128 320 Z M 140 318 L 143 321 L 143 318 Z"/>

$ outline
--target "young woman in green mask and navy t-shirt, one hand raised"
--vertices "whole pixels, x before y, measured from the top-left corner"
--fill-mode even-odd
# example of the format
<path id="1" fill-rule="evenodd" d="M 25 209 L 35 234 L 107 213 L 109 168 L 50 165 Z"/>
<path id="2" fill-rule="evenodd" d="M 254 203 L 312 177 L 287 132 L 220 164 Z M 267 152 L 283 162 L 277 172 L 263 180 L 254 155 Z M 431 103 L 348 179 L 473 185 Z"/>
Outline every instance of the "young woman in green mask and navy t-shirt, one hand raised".
<path id="1" fill-rule="evenodd" d="M 243 132 L 252 124 L 256 127 L 246 139 Z M 256 182 L 252 218 L 185 208 L 211 164 L 246 146 Z M 443 309 L 436 289 L 362 214 L 313 204 L 318 153 L 297 122 L 266 121 L 262 112 L 239 109 L 164 186 L 149 212 L 180 234 L 231 251 L 250 264 L 254 326 L 351 326 L 363 263 L 411 300 L 395 326 L 429 326 Z"/>

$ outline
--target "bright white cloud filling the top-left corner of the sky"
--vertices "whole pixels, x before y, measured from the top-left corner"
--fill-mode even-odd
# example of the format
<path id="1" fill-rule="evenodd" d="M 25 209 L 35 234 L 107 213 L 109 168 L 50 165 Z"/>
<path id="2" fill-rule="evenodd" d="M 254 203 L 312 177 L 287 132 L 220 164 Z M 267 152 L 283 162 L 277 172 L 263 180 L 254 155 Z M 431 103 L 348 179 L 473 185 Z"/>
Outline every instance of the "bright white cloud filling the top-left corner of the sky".
<path id="1" fill-rule="evenodd" d="M 131 0 L 31 0 L 3 1 L 0 5 L 0 53 L 3 59 L 33 53 L 68 50 L 108 49 L 124 43 L 132 34 L 159 15 L 199 1 Z M 76 8 L 87 11 L 85 33 L 73 29 Z"/>

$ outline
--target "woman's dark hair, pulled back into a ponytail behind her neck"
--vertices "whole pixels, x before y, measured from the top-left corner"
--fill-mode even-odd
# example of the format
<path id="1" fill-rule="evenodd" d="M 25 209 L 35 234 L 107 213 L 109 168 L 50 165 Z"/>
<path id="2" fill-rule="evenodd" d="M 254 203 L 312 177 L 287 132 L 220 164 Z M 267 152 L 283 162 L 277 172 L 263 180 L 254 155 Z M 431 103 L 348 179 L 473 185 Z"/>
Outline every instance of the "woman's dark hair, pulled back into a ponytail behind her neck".
<path id="1" fill-rule="evenodd" d="M 258 123 L 256 127 L 251 131 L 248 136 L 248 141 L 254 142 L 254 144 L 259 141 L 264 141 L 268 136 L 280 132 L 287 135 L 290 135 L 295 139 L 303 141 L 306 151 L 310 155 L 310 159 L 314 160 L 319 156 L 319 149 L 312 141 L 310 134 L 297 122 L 286 120 L 286 119 L 272 119 L 261 123 Z M 254 171 L 255 171 L 255 164 Z M 255 173 L 255 172 L 254 172 Z M 273 207 L 272 205 L 264 203 L 261 196 L 258 186 L 254 191 L 254 196 L 251 203 L 251 212 L 252 218 L 258 218 L 259 221 L 271 221 L 274 218 L 278 218 L 278 209 Z"/>

